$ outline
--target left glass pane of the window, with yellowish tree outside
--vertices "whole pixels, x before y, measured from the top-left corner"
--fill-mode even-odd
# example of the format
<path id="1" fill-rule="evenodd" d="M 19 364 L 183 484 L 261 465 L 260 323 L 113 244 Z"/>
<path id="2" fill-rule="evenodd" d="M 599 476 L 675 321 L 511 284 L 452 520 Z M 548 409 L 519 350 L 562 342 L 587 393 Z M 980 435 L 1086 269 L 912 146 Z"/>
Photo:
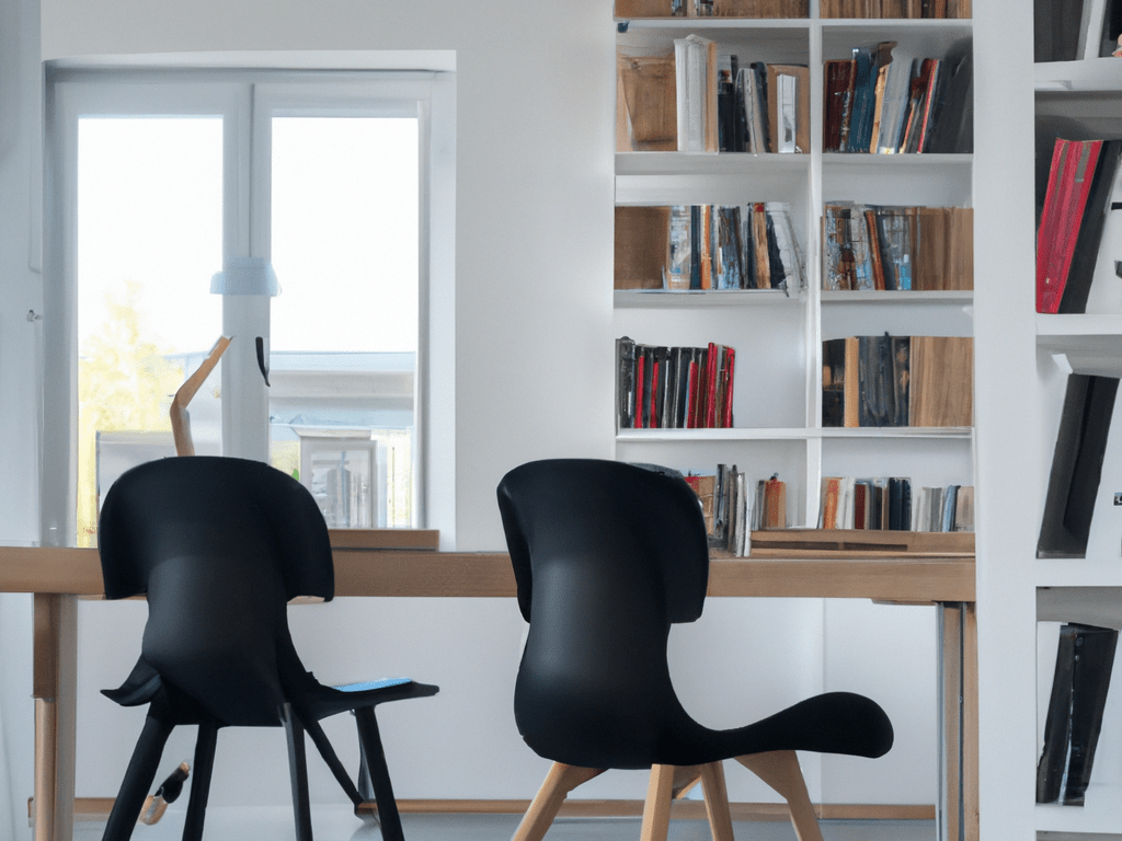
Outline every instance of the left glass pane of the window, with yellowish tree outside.
<path id="1" fill-rule="evenodd" d="M 173 455 L 168 410 L 222 333 L 220 118 L 83 118 L 77 148 L 79 545 L 125 470 Z M 218 369 L 190 405 L 221 450 Z"/>

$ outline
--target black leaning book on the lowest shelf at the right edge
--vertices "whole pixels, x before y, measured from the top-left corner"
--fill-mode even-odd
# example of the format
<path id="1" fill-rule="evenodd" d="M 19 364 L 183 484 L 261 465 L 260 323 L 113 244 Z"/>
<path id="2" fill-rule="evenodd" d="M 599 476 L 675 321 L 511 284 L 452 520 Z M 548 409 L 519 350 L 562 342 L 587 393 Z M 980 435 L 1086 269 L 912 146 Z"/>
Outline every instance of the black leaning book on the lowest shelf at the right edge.
<path id="1" fill-rule="evenodd" d="M 1083 805 L 1103 723 L 1119 632 L 1089 625 L 1060 628 L 1037 803 Z"/>

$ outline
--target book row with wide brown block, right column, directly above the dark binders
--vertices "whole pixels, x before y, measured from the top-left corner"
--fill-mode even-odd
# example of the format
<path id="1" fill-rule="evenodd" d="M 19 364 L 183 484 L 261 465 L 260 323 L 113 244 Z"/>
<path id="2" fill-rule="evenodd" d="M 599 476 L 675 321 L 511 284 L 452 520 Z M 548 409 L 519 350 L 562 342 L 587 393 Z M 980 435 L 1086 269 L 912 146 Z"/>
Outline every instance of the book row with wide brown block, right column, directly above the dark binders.
<path id="1" fill-rule="evenodd" d="M 974 288 L 974 211 L 831 202 L 824 213 L 822 288 Z"/>

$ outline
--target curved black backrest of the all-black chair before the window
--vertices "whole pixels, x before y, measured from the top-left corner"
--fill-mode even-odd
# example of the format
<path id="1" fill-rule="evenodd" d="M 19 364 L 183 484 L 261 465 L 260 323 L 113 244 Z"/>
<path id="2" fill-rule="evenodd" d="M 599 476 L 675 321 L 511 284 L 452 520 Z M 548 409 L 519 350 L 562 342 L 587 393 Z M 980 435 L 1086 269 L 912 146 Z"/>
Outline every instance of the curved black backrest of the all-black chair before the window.
<path id="1" fill-rule="evenodd" d="M 334 593 L 311 493 L 254 461 L 190 456 L 123 473 L 102 506 L 105 595 L 148 597 L 141 656 L 223 724 L 279 723 L 300 680 L 286 602 Z"/>

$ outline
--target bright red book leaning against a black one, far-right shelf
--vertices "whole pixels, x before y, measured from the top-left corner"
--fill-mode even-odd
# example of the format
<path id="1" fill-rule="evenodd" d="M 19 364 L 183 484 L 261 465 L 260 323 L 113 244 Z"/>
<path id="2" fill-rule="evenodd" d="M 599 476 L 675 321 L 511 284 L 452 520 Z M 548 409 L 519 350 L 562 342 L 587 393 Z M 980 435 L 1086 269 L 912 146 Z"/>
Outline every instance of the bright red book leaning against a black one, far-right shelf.
<path id="1" fill-rule="evenodd" d="M 1037 312 L 1059 312 L 1102 140 L 1057 140 L 1037 234 Z"/>

